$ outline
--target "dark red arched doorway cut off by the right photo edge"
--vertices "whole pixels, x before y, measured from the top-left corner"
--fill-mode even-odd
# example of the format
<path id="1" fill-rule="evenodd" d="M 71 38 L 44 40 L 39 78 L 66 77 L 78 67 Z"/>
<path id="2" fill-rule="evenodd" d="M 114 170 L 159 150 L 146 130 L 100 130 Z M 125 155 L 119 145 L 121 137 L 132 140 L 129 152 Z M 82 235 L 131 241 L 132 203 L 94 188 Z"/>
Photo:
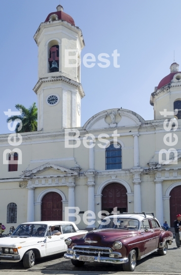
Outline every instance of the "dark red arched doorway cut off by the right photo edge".
<path id="1" fill-rule="evenodd" d="M 181 185 L 170 191 L 170 227 L 173 227 L 177 214 L 181 214 Z"/>

